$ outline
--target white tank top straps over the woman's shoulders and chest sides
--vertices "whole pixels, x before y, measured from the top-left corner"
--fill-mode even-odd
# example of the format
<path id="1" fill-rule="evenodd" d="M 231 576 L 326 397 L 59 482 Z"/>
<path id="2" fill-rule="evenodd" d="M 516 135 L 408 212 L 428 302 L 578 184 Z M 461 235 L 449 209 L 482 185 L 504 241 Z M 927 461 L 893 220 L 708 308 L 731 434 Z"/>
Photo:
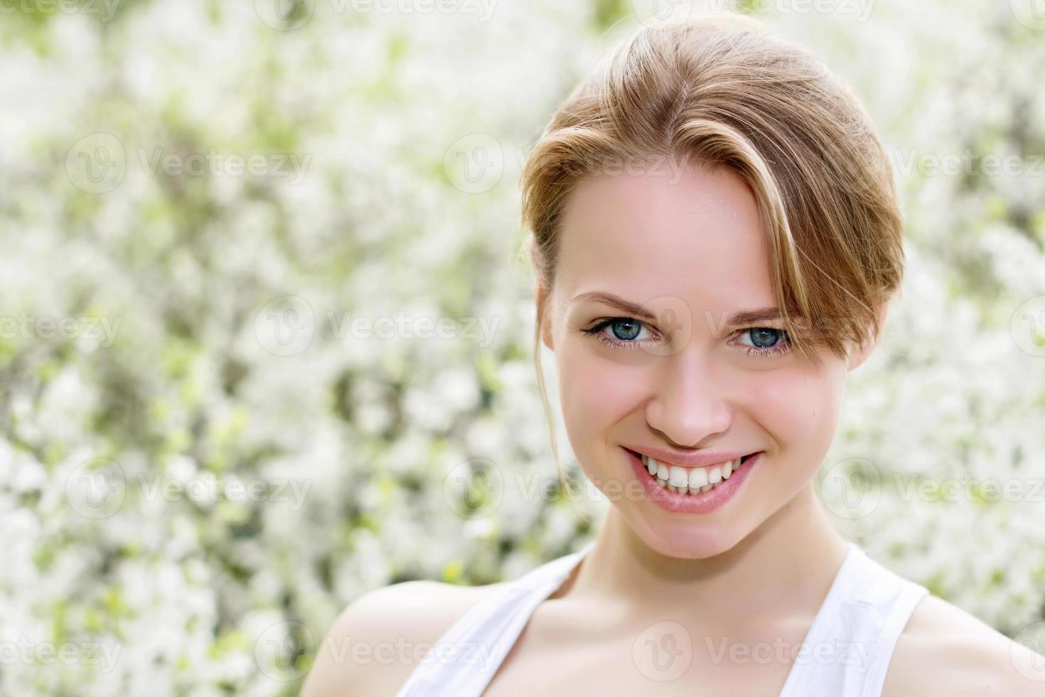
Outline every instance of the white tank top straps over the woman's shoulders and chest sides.
<path id="1" fill-rule="evenodd" d="M 474 605 L 421 658 L 397 697 L 480 697 L 537 606 L 594 545 L 591 540 L 541 564 Z M 808 650 L 796 654 L 780 697 L 881 695 L 897 640 L 928 594 L 853 542 L 846 545 L 845 559 L 806 634 Z"/>

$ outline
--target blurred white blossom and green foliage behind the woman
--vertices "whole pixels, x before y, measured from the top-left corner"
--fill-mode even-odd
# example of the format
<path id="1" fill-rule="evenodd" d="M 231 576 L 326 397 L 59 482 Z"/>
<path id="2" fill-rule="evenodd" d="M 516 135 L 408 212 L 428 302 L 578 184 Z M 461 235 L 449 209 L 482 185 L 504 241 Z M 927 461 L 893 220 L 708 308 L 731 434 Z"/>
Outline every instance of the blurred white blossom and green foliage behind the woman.
<path id="1" fill-rule="evenodd" d="M 0 693 L 297 694 L 362 594 L 586 541 L 518 173 L 610 43 L 706 7 L 855 85 L 903 199 L 821 498 L 1041 642 L 1040 3 L 4 0 Z"/>

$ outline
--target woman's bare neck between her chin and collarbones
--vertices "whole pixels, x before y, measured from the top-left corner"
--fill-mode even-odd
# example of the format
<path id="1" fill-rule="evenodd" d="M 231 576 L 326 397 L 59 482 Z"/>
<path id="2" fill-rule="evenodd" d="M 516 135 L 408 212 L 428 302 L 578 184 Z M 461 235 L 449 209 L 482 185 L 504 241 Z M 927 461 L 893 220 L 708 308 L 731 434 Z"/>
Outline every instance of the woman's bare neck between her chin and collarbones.
<path id="1" fill-rule="evenodd" d="M 617 608 L 619 619 L 736 628 L 815 614 L 847 551 L 812 484 L 732 549 L 679 559 L 651 549 L 613 507 L 593 549 L 556 594 Z M 666 614 L 667 613 L 667 614 Z"/>

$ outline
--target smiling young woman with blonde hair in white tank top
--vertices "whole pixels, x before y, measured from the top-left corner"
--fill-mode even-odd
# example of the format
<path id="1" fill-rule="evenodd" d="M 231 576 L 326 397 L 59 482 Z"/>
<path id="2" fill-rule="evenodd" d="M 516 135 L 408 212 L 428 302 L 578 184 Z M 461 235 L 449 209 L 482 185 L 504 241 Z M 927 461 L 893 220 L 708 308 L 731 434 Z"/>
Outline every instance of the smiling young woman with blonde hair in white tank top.
<path id="1" fill-rule="evenodd" d="M 903 271 L 849 88 L 750 20 L 646 26 L 522 185 L 535 352 L 606 518 L 515 581 L 355 601 L 306 696 L 1045 694 L 1029 650 L 843 540 L 814 494 Z"/>

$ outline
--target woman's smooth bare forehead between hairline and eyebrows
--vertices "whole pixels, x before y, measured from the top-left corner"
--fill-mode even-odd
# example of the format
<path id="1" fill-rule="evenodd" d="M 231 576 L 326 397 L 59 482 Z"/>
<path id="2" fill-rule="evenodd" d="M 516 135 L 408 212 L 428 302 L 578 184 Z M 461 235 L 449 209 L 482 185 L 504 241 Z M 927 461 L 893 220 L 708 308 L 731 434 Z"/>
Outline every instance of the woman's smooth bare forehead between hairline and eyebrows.
<path id="1" fill-rule="evenodd" d="M 556 285 L 676 296 L 703 307 L 773 304 L 765 232 L 739 175 L 667 164 L 585 177 L 566 200 Z"/>

